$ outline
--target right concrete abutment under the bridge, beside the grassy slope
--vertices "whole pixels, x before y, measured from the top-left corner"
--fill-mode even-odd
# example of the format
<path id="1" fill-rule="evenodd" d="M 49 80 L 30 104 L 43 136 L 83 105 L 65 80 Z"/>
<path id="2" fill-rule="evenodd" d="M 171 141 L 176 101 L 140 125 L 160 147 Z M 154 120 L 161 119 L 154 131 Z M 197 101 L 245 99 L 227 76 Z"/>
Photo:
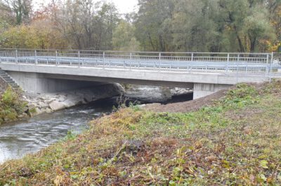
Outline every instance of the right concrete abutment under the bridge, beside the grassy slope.
<path id="1" fill-rule="evenodd" d="M 207 84 L 207 83 L 194 83 L 193 99 L 198 99 L 218 92 L 219 90 L 226 89 L 231 85 L 221 84 Z"/>

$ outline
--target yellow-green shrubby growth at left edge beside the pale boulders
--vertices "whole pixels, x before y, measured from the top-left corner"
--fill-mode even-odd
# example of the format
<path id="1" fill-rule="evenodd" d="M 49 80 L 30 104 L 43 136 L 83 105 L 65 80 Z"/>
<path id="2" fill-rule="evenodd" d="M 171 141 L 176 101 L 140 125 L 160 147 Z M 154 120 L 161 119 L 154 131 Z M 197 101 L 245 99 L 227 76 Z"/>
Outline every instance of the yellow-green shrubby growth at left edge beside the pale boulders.
<path id="1" fill-rule="evenodd" d="M 26 103 L 20 100 L 20 94 L 8 87 L 3 94 L 0 94 L 0 124 L 18 120 L 25 106 Z"/>

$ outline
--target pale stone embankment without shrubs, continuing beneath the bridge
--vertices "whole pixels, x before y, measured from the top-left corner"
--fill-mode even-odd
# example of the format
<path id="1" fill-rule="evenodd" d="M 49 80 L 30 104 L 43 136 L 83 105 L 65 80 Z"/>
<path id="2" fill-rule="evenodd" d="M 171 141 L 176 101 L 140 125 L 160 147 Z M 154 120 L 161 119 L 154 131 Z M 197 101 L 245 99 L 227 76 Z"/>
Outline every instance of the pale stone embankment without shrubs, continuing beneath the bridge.
<path id="1" fill-rule="evenodd" d="M 164 103 L 172 99 L 173 96 L 188 94 L 190 89 L 125 85 L 125 89 L 119 84 L 107 84 L 96 87 L 56 92 L 48 94 L 28 94 L 24 93 L 23 101 L 27 101 L 27 108 L 20 117 L 39 115 L 41 113 L 52 113 L 56 110 L 70 108 L 81 104 L 91 103 L 99 99 L 121 96 L 129 101 L 140 101 L 141 103 Z"/>

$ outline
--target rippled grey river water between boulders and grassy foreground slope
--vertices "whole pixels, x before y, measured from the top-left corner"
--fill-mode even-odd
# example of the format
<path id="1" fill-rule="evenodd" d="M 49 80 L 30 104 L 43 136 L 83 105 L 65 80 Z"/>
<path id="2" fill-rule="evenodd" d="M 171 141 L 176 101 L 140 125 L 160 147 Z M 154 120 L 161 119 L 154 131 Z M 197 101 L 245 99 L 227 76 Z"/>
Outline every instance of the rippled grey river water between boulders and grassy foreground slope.
<path id="1" fill-rule="evenodd" d="M 1 125 L 0 163 L 22 157 L 26 153 L 38 152 L 66 136 L 67 131 L 80 133 L 86 129 L 90 120 L 111 110 L 112 103 L 105 101 Z"/>

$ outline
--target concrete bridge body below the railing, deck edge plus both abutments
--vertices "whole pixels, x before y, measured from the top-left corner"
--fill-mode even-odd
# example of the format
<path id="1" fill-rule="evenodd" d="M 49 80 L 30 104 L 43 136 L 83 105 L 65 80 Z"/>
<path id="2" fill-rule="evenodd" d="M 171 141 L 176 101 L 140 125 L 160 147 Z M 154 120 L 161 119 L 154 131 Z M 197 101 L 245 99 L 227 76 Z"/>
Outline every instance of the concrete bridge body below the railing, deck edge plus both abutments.
<path id="1" fill-rule="evenodd" d="M 194 99 L 197 99 L 237 83 L 261 83 L 269 80 L 266 76 L 247 74 L 233 76 L 222 72 L 137 71 L 8 63 L 0 63 L 0 67 L 8 72 L 23 90 L 33 93 L 60 92 L 105 83 L 128 83 L 190 88 L 194 90 Z"/>

